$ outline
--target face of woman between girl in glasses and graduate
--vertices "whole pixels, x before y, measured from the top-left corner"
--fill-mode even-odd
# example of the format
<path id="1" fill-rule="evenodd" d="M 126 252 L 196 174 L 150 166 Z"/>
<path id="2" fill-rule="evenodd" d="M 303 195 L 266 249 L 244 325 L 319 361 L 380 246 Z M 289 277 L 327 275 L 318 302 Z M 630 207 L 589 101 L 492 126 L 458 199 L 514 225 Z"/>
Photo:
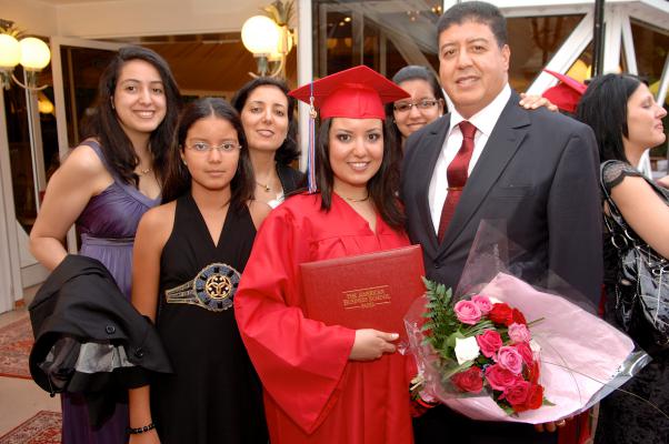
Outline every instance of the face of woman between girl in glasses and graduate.
<path id="1" fill-rule="evenodd" d="M 250 150 L 277 151 L 288 134 L 288 98 L 279 88 L 263 84 L 251 91 L 241 110 Z"/>

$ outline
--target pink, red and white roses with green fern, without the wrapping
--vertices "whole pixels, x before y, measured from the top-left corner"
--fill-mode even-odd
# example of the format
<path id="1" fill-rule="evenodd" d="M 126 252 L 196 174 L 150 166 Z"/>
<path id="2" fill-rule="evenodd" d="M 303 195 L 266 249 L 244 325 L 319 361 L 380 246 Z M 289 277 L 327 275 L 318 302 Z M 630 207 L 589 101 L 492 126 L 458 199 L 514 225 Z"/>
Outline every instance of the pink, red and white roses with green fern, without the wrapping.
<path id="1" fill-rule="evenodd" d="M 425 280 L 425 341 L 440 357 L 441 383 L 451 392 L 486 389 L 508 414 L 552 405 L 539 384 L 539 344 L 525 315 L 495 297 L 476 294 L 451 304 L 451 290 Z"/>

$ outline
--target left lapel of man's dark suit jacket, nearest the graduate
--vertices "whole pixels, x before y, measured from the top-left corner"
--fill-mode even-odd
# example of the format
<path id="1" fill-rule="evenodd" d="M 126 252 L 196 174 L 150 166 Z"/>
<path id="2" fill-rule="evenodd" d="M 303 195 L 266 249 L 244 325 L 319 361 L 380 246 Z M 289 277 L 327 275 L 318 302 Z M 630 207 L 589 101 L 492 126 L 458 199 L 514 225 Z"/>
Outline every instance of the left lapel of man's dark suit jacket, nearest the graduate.
<path id="1" fill-rule="evenodd" d="M 415 148 L 416 150 L 419 150 L 416 153 L 420 159 L 418 164 L 422 165 L 422 171 L 416 172 L 419 174 L 417 180 L 418 190 L 420 190 L 420 202 L 418 203 L 418 209 L 420 212 L 420 221 L 423 223 L 423 233 L 427 233 L 430 241 L 429 245 L 422 246 L 423 249 L 428 248 L 430 250 L 428 254 L 431 258 L 437 255 L 439 241 L 437 240 L 437 233 L 435 232 L 435 225 L 432 224 L 432 214 L 430 212 L 430 182 L 432 181 L 435 167 L 437 165 L 437 160 L 439 159 L 439 154 L 443 148 L 443 141 L 446 140 L 446 134 L 448 133 L 450 115 L 447 114 L 442 117 L 440 122 L 441 123 L 437 128 L 430 130 L 426 134 L 423 142 Z"/>

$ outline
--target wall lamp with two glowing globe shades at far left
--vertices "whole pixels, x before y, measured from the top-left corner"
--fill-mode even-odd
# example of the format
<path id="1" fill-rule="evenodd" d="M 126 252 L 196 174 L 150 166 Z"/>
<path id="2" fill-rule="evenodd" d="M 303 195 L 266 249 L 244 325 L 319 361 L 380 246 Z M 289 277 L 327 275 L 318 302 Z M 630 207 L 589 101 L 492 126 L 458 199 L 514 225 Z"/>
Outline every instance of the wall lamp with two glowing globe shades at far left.
<path id="1" fill-rule="evenodd" d="M 48 85 L 38 87 L 37 77 L 51 60 L 49 47 L 34 37 L 27 37 L 19 41 L 18 36 L 13 22 L 0 19 L 0 85 L 9 90 L 13 80 L 27 90 L 43 90 Z M 26 83 L 19 81 L 13 74 L 13 69 L 19 63 L 26 72 Z"/>

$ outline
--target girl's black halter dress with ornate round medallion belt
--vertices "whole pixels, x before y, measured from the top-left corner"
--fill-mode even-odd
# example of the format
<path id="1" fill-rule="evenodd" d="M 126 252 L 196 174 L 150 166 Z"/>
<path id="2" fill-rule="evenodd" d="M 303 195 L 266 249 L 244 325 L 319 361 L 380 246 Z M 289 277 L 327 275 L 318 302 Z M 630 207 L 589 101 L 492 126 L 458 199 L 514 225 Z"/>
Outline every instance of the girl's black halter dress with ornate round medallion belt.
<path id="1" fill-rule="evenodd" d="M 157 316 L 174 374 L 151 384 L 163 444 L 268 442 L 261 385 L 232 309 L 254 236 L 248 208 L 230 208 L 217 246 L 190 193 L 177 200 Z"/>

